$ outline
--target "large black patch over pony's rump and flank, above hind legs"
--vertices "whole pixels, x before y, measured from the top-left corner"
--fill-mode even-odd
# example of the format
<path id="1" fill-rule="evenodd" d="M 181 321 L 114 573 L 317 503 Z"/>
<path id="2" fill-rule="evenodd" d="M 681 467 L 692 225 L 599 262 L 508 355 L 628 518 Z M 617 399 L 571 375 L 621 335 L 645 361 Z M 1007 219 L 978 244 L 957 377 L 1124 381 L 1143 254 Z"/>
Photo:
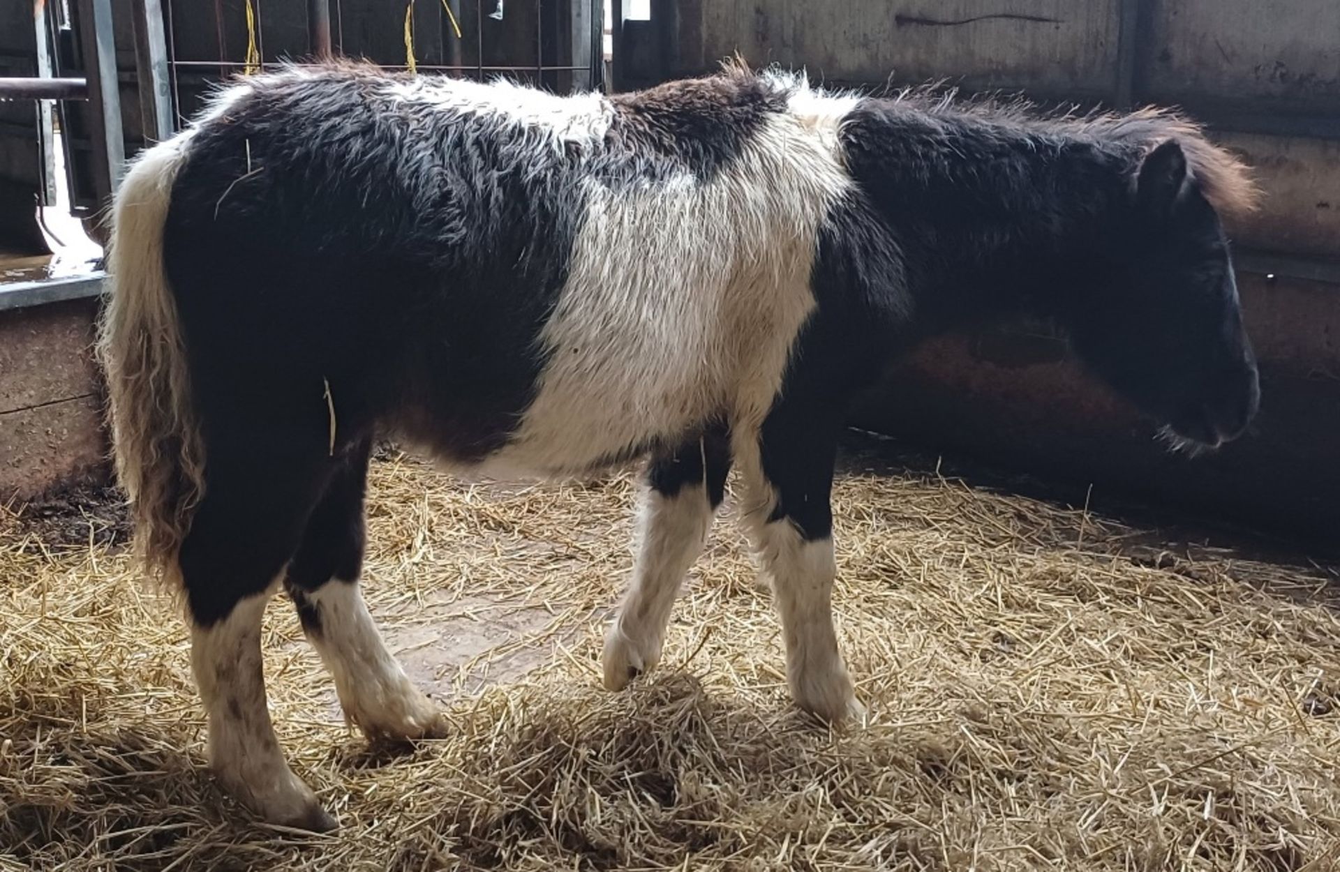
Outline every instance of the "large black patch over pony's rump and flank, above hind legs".
<path id="1" fill-rule="evenodd" d="M 389 82 L 259 79 L 190 142 L 165 260 L 206 429 L 319 413 L 328 383 L 342 435 L 393 421 L 477 461 L 529 405 L 582 158 Z"/>

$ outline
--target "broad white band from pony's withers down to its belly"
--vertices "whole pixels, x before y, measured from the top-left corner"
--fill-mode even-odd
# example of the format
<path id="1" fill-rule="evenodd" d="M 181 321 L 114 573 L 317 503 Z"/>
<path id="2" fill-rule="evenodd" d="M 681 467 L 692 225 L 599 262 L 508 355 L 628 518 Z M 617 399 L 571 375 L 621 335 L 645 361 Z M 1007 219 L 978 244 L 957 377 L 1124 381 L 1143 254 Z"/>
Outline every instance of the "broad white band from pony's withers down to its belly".
<path id="1" fill-rule="evenodd" d="M 587 182 L 537 395 L 489 471 L 582 473 L 724 413 L 757 429 L 815 307 L 820 226 L 851 188 L 825 137 L 769 117 L 712 181 Z"/>

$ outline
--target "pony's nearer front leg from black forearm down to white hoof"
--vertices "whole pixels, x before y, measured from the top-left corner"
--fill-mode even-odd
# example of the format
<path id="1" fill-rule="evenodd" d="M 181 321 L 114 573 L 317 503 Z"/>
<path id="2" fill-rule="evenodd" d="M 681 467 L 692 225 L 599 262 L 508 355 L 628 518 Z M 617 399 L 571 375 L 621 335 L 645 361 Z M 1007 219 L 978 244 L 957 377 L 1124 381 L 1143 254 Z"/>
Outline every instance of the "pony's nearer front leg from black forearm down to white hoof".
<path id="1" fill-rule="evenodd" d="M 833 461 L 839 418 L 784 402 L 764 423 L 757 451 L 741 451 L 744 520 L 772 580 L 787 646 L 787 683 L 820 718 L 863 719 L 833 631 Z"/>

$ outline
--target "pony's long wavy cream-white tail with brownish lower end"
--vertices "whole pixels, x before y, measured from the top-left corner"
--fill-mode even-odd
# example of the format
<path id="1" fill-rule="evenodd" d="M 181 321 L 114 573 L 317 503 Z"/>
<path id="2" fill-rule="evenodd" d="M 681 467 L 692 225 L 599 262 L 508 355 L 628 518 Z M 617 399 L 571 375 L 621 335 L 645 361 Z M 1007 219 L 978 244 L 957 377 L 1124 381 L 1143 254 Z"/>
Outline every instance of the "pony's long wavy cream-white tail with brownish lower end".
<path id="1" fill-rule="evenodd" d="M 139 556 L 176 569 L 204 494 L 204 443 L 177 304 L 163 271 L 163 225 L 190 135 L 145 151 L 113 204 L 110 300 L 98 330 L 117 476 L 130 496 Z"/>

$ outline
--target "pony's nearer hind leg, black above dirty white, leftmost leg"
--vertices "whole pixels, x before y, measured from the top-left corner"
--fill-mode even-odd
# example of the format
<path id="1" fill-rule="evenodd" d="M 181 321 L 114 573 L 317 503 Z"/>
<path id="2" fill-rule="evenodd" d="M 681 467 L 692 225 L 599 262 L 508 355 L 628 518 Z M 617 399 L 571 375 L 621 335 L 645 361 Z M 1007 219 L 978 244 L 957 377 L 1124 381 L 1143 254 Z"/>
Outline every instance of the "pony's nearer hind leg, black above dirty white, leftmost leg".
<path id="1" fill-rule="evenodd" d="M 261 617 L 315 501 L 319 462 L 209 446 L 206 490 L 178 553 L 190 664 L 224 789 L 272 824 L 328 830 L 334 818 L 288 768 L 271 723 Z"/>

